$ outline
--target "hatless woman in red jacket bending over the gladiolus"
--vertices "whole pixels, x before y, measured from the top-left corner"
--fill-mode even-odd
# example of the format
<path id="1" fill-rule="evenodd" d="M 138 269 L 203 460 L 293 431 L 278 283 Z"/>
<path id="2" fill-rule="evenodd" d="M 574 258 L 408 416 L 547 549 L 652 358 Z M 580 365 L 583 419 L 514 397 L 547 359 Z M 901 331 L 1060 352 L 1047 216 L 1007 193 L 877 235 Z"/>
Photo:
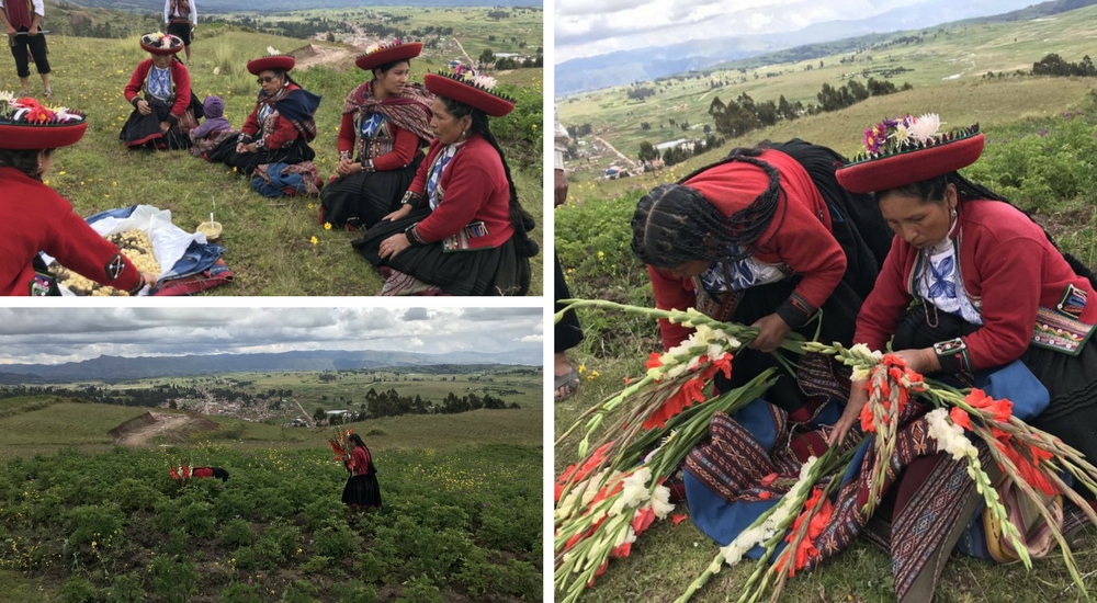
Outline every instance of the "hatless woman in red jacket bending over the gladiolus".
<path id="1" fill-rule="evenodd" d="M 632 249 L 648 266 L 656 305 L 697 308 L 759 330 L 751 350 L 736 355 L 732 380 L 720 377 L 722 390 L 772 366 L 769 352 L 790 331 L 812 338 L 819 328 L 822 341 L 852 340 L 889 237 L 881 236 L 883 221 L 871 200 L 838 185 L 839 159 L 795 139 L 735 149 L 637 203 Z M 666 349 L 690 333 L 665 320 L 659 327 Z M 808 401 L 784 375 L 766 399 L 789 411 Z"/>

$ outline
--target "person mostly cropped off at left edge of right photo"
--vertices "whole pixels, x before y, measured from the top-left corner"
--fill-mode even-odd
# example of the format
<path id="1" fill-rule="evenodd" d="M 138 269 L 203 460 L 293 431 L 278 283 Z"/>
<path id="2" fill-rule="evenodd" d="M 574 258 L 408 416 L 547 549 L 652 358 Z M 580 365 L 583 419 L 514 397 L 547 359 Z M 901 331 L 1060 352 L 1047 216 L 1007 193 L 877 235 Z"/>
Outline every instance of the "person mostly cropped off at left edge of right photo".
<path id="1" fill-rule="evenodd" d="M 554 189 L 555 189 L 555 204 L 556 207 L 564 205 L 567 202 L 567 175 L 564 173 L 564 151 L 567 150 L 567 129 L 564 128 L 559 123 L 559 113 L 555 111 L 556 106 L 553 105 L 553 118 L 555 120 L 555 148 L 556 152 L 553 156 L 553 173 Z M 561 306 L 561 299 L 567 299 L 572 297 L 572 292 L 567 288 L 567 282 L 564 281 L 564 271 L 559 268 L 559 255 L 554 255 L 556 264 L 556 282 L 553 285 L 553 298 L 556 300 L 556 309 L 554 311 L 559 311 L 563 309 Z M 566 400 L 579 388 L 579 374 L 576 373 L 575 367 L 572 366 L 572 362 L 567 357 L 567 351 L 575 348 L 583 341 L 583 328 L 579 326 L 579 318 L 575 316 L 574 310 L 569 310 L 564 317 L 556 323 L 556 332 L 554 335 L 555 353 L 553 355 L 553 376 L 555 380 L 553 382 L 553 398 L 555 401 L 559 402 Z"/>

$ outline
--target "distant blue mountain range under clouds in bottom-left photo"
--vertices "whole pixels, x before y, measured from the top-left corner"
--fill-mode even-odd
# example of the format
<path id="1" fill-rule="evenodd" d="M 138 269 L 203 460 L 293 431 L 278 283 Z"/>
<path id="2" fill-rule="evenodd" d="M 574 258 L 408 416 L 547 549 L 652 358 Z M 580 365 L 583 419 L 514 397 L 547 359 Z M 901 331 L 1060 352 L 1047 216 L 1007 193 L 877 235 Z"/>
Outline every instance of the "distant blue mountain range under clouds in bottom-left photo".
<path id="1" fill-rule="evenodd" d="M 342 352 L 308 351 L 280 354 L 216 354 L 126 359 L 99 356 L 66 364 L 0 365 L 0 384 L 73 382 L 86 379 L 145 379 L 211 373 L 358 371 L 363 368 L 434 366 L 440 364 L 541 365 L 541 350 L 510 352 Z"/>

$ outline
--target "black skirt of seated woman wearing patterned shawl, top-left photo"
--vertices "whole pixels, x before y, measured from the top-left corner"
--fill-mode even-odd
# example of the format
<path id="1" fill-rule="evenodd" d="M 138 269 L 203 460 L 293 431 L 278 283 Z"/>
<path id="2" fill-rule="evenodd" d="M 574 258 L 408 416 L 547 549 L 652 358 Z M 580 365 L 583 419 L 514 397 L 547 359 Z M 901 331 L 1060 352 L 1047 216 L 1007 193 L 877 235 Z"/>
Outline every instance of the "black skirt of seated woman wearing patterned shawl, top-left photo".
<path id="1" fill-rule="evenodd" d="M 419 163 L 422 163 L 421 152 L 411 163 L 397 170 L 361 171 L 328 184 L 320 192 L 321 221 L 355 228 L 377 224 L 400 208 L 400 200 L 411 185 Z"/>

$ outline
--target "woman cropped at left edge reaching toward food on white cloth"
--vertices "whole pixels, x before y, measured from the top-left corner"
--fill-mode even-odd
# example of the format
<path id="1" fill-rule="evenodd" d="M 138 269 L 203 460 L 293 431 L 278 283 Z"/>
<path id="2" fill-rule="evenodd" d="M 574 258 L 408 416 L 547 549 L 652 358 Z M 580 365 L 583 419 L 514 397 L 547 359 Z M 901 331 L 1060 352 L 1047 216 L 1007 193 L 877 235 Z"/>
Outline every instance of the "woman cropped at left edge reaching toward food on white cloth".
<path id="1" fill-rule="evenodd" d="M 38 252 L 92 281 L 136 294 L 156 276 L 142 274 L 118 249 L 42 182 L 54 151 L 80 139 L 82 114 L 0 93 L 0 295 L 57 295 Z"/>

